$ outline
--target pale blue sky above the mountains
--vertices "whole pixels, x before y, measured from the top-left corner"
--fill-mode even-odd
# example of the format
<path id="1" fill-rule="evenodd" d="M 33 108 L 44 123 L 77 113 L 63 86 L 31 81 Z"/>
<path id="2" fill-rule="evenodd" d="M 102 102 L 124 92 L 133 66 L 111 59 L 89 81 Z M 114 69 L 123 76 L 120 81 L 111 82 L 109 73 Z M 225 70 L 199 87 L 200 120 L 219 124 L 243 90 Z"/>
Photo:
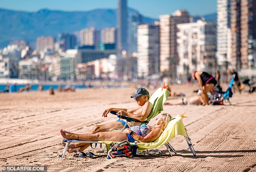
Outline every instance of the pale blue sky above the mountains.
<path id="1" fill-rule="evenodd" d="M 88 11 L 97 8 L 117 8 L 118 0 L 0 0 L 0 8 L 34 12 L 42 8 L 64 11 Z M 128 0 L 128 6 L 147 17 L 188 10 L 191 15 L 216 12 L 216 0 Z"/>

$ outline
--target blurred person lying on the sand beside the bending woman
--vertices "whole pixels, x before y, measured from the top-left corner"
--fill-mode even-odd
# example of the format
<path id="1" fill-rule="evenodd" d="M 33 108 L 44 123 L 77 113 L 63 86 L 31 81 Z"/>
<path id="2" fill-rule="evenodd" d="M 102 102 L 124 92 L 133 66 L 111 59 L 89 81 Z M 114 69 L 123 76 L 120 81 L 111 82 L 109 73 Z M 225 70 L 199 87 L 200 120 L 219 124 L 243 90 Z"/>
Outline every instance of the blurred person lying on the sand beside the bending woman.
<path id="1" fill-rule="evenodd" d="M 164 105 L 203 105 L 204 100 L 201 96 L 196 95 L 193 97 L 184 97 L 183 99 L 176 100 L 175 103 L 166 101 Z"/>

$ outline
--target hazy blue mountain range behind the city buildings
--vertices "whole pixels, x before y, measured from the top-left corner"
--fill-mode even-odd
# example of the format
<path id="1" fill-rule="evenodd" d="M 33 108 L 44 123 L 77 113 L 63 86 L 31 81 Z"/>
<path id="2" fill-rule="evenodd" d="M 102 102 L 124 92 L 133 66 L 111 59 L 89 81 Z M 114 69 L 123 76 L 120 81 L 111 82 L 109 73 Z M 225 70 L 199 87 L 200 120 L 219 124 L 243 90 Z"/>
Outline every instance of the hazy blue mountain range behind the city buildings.
<path id="1" fill-rule="evenodd" d="M 86 27 L 116 27 L 116 9 L 95 9 L 90 11 L 66 12 L 42 9 L 37 12 L 23 12 L 0 8 L 0 48 L 10 41 L 25 40 L 35 46 L 39 36 L 57 37 L 60 32 L 73 33 Z M 129 14 L 138 11 L 129 8 Z M 206 21 L 216 23 L 216 14 L 208 15 Z M 215 17 L 215 18 L 214 18 Z M 149 17 L 142 17 L 143 23 L 154 23 Z"/>

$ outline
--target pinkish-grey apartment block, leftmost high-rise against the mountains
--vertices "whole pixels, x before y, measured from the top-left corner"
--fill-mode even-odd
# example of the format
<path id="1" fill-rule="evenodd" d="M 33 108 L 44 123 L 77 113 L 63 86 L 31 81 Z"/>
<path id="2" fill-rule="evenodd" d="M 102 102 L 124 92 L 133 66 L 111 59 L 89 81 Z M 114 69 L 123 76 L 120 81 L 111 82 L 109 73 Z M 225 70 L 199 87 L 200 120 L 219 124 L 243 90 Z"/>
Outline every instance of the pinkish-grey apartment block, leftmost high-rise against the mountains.
<path id="1" fill-rule="evenodd" d="M 55 39 L 52 36 L 42 36 L 36 39 L 36 49 L 44 51 L 45 49 L 54 50 Z"/>

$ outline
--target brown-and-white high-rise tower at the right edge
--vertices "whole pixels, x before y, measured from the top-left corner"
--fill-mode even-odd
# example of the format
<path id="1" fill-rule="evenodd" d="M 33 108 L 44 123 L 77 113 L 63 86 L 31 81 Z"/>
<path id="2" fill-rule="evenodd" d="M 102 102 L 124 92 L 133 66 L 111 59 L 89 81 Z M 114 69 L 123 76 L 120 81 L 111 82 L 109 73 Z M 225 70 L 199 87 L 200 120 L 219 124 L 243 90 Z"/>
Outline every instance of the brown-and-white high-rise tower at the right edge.
<path id="1" fill-rule="evenodd" d="M 231 0 L 232 66 L 256 68 L 256 0 Z"/>

